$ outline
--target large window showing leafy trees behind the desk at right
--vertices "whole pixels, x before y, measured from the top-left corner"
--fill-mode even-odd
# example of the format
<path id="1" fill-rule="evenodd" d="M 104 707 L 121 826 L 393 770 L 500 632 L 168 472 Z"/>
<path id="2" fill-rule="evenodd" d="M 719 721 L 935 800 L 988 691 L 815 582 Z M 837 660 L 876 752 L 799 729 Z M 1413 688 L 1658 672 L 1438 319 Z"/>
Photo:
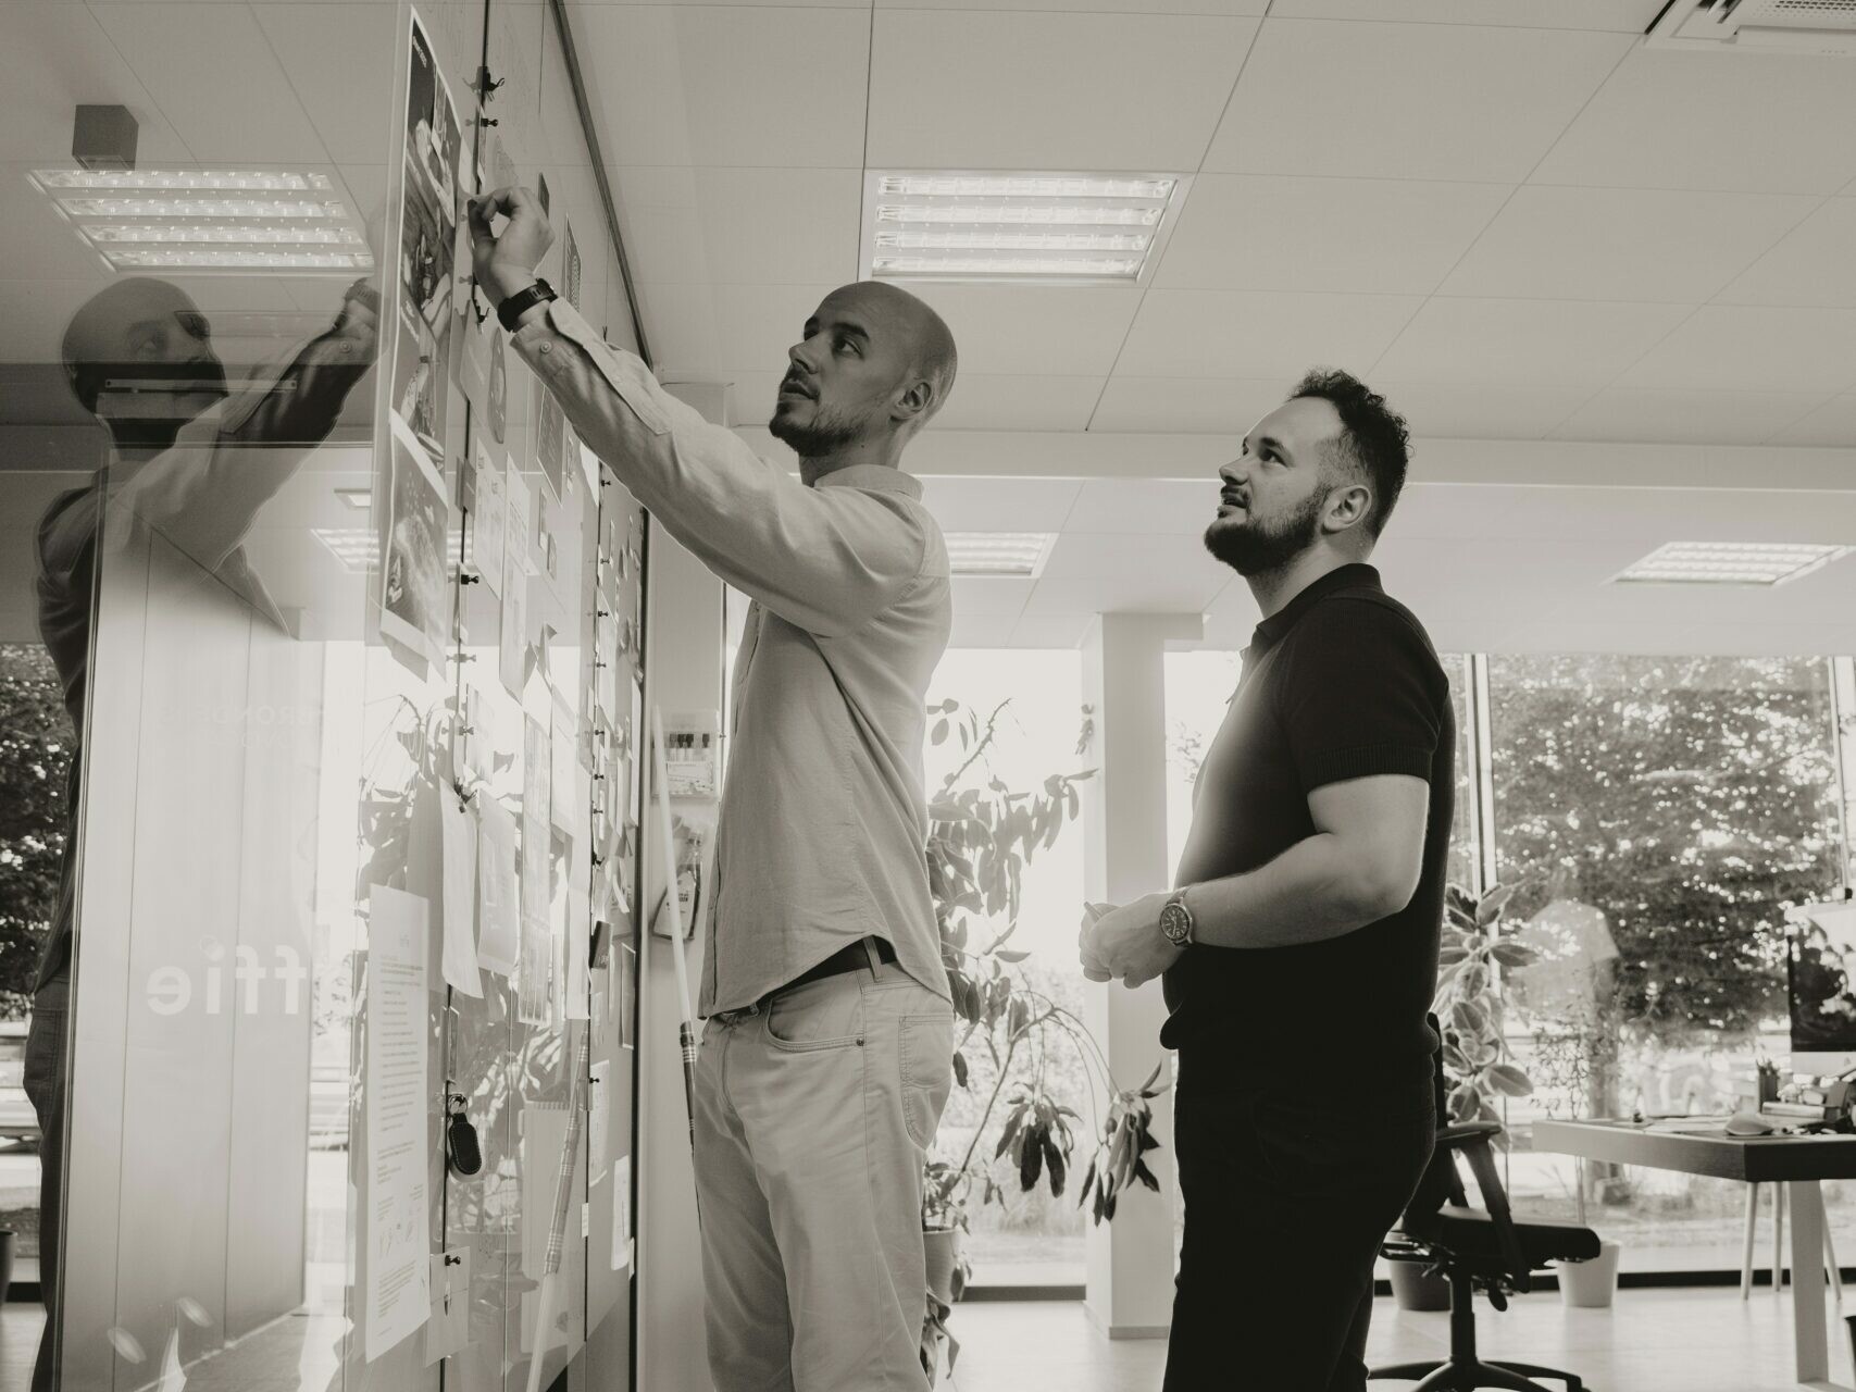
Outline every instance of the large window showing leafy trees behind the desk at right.
<path id="1" fill-rule="evenodd" d="M 1626 1270 L 1737 1270 L 1745 1188 L 1592 1164 L 1581 1205 L 1529 1121 L 1721 1112 L 1756 1049 L 1784 1063 L 1784 909 L 1843 872 L 1830 689 L 1823 659 L 1489 659 L 1500 878 L 1544 954 L 1503 984 L 1537 1084 L 1509 1104 L 1514 1206 L 1583 1210 Z"/>

